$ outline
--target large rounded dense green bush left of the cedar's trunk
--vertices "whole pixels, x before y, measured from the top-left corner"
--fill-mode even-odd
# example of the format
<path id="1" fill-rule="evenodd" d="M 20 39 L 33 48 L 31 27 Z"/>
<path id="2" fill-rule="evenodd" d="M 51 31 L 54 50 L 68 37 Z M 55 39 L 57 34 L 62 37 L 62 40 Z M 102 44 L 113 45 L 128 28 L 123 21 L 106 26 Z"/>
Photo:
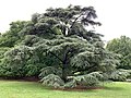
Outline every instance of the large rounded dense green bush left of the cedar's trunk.
<path id="1" fill-rule="evenodd" d="M 38 76 L 44 64 L 39 62 L 39 57 L 35 56 L 31 47 L 20 46 L 4 53 L 0 66 L 1 76 L 20 78 L 24 76 Z"/>

